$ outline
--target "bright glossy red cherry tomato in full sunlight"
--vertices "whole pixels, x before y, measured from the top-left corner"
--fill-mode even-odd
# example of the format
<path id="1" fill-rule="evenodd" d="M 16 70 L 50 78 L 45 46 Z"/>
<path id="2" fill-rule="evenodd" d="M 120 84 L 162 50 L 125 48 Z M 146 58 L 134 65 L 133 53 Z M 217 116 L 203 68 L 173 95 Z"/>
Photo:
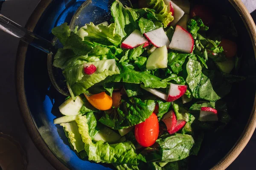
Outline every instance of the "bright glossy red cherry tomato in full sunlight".
<path id="1" fill-rule="evenodd" d="M 159 134 L 159 123 L 157 115 L 152 113 L 145 122 L 135 125 L 135 138 L 143 147 L 149 147 L 154 144 Z"/>

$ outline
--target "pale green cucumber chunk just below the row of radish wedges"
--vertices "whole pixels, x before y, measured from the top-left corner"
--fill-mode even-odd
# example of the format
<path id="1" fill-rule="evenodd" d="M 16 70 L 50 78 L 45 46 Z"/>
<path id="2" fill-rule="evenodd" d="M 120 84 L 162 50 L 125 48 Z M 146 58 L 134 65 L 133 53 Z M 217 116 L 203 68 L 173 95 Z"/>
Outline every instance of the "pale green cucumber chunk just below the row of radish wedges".
<path id="1" fill-rule="evenodd" d="M 166 68 L 168 62 L 168 51 L 166 45 L 157 48 L 149 57 L 146 63 L 148 70 L 155 70 L 157 68 Z"/>

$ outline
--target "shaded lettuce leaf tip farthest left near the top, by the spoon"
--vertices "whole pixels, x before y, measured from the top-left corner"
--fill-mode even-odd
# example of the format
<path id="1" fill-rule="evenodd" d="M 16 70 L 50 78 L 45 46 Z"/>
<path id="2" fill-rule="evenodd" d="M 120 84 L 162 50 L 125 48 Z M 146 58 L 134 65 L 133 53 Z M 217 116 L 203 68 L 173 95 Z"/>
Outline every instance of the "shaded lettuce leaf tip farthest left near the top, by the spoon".
<path id="1" fill-rule="evenodd" d="M 68 37 L 70 36 L 70 28 L 67 23 L 63 23 L 60 26 L 52 28 L 52 34 L 55 35 L 62 45 L 65 45 Z"/>

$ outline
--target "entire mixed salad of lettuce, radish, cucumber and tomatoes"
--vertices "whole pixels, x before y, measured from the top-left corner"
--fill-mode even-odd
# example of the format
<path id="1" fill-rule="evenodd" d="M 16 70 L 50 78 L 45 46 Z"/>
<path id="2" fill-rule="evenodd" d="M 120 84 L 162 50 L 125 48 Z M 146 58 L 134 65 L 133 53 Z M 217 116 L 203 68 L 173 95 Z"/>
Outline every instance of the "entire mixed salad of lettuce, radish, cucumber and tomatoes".
<path id="1" fill-rule="evenodd" d="M 190 8 L 191 7 L 191 8 Z M 115 0 L 111 21 L 52 29 L 70 96 L 60 124 L 81 159 L 118 170 L 187 169 L 231 117 L 239 68 L 230 17 L 187 0 Z M 222 99 L 224 98 L 224 99 Z"/>

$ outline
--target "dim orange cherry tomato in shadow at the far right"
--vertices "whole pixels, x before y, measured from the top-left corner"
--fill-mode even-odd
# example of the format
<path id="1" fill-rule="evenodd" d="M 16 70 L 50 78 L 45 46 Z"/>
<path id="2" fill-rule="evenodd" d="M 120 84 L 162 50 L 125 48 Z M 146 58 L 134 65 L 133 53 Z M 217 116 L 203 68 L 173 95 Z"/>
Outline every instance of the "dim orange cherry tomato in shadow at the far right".
<path id="1" fill-rule="evenodd" d="M 227 58 L 234 57 L 237 52 L 236 42 L 222 38 L 219 46 L 223 47 L 224 54 Z"/>

